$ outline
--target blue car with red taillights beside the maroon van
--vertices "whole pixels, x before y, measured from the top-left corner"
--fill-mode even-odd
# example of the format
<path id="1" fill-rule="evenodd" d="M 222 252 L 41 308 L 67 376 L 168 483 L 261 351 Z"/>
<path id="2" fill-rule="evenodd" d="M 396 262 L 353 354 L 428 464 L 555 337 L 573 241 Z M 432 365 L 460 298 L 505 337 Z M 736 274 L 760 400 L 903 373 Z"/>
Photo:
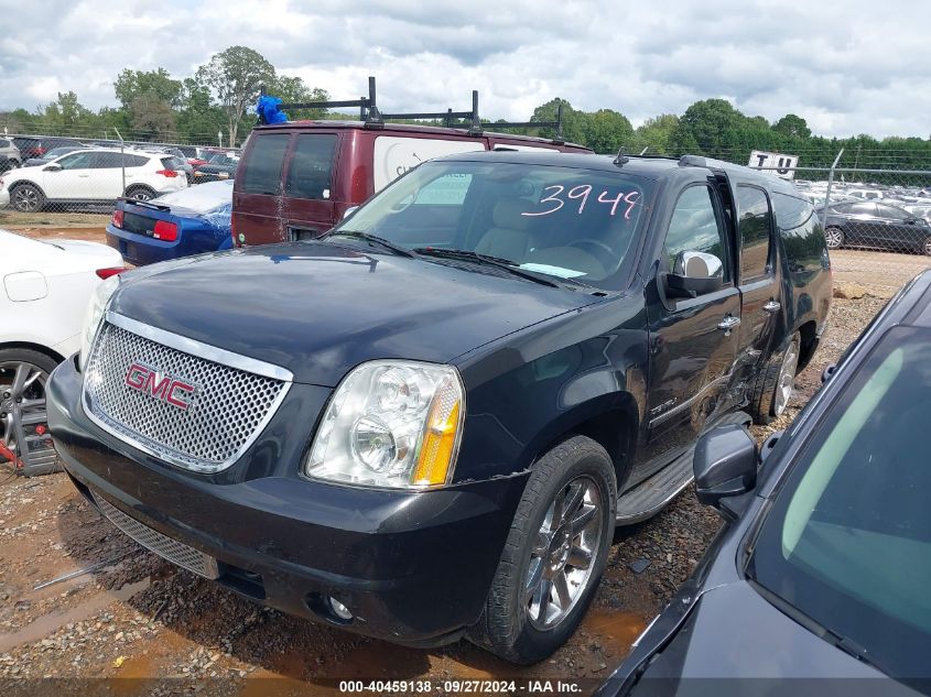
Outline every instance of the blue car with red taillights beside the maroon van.
<path id="1" fill-rule="evenodd" d="M 152 200 L 119 200 L 107 243 L 137 266 L 232 248 L 232 182 L 212 182 Z"/>

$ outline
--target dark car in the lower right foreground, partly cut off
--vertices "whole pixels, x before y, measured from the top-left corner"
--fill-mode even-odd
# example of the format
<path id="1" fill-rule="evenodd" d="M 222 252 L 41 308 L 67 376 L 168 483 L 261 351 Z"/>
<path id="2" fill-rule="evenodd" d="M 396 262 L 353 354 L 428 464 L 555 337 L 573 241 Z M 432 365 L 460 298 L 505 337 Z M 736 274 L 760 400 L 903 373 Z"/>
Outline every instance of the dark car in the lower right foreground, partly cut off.
<path id="1" fill-rule="evenodd" d="M 716 694 L 907 694 L 818 680 L 885 676 L 931 694 L 931 271 L 825 380 L 761 453 L 739 427 L 699 442 L 699 499 L 729 525 L 600 695 L 697 678 Z"/>

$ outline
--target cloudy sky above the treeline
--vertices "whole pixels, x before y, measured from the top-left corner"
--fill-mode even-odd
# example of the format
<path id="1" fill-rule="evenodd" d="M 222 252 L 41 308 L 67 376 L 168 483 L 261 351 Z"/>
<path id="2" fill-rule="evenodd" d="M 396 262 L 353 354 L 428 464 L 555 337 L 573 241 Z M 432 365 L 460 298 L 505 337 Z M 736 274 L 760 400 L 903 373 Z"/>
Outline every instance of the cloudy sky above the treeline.
<path id="1" fill-rule="evenodd" d="M 563 97 L 635 126 L 724 97 L 816 133 L 931 134 L 931 2 L 845 0 L 0 0 L 0 109 L 74 90 L 115 105 L 125 67 L 185 77 L 241 44 L 385 111 L 526 120 Z"/>

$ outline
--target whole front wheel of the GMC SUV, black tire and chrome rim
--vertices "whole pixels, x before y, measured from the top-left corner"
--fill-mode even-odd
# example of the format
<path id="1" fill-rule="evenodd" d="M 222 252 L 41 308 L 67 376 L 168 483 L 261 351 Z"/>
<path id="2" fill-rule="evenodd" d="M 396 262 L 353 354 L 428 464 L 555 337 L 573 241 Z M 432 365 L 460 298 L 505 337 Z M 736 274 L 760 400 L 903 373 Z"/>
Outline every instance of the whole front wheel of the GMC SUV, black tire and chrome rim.
<path id="1" fill-rule="evenodd" d="M 577 503 L 557 515 L 557 497 Z M 614 465 L 591 438 L 573 436 L 538 460 L 468 639 L 522 665 L 542 661 L 564 644 L 605 570 L 616 508 Z M 562 522 L 555 530 L 554 518 Z"/>

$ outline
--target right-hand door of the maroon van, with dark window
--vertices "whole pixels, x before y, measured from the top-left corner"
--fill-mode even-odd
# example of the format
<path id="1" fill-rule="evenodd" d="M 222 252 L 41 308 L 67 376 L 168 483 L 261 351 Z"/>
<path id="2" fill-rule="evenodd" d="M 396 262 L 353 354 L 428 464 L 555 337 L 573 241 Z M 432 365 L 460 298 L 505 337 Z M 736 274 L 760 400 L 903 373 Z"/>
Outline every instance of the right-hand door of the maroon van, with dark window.
<path id="1" fill-rule="evenodd" d="M 285 239 L 320 237 L 336 225 L 340 202 L 336 200 L 334 175 L 339 138 L 336 132 L 320 131 L 294 135 L 281 210 Z"/>

